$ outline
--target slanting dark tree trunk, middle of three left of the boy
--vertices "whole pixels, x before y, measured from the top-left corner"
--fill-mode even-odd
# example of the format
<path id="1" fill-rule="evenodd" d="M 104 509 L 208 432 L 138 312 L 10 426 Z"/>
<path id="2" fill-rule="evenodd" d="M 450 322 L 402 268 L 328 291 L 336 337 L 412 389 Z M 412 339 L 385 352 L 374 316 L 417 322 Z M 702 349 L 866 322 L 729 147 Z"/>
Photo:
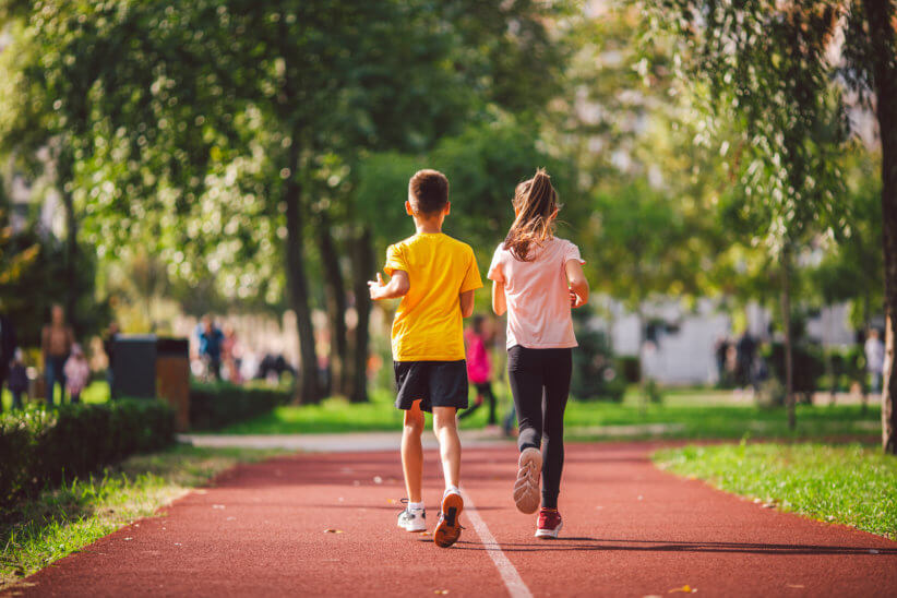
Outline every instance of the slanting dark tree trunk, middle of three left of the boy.
<path id="1" fill-rule="evenodd" d="M 327 315 L 331 321 L 331 393 L 345 395 L 348 391 L 348 336 L 346 332 L 346 284 L 339 270 L 339 256 L 331 230 L 331 219 L 321 212 L 318 223 L 318 247 L 324 268 L 324 289 L 327 297 Z"/>

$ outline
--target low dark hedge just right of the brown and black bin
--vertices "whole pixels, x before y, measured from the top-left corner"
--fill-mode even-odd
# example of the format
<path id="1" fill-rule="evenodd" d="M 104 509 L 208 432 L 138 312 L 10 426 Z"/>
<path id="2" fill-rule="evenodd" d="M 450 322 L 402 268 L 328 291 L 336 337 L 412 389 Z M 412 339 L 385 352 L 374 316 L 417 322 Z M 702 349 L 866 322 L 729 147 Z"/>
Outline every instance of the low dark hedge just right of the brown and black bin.
<path id="1" fill-rule="evenodd" d="M 292 391 L 283 387 L 194 382 L 190 386 L 190 428 L 224 428 L 266 414 L 291 397 Z"/>

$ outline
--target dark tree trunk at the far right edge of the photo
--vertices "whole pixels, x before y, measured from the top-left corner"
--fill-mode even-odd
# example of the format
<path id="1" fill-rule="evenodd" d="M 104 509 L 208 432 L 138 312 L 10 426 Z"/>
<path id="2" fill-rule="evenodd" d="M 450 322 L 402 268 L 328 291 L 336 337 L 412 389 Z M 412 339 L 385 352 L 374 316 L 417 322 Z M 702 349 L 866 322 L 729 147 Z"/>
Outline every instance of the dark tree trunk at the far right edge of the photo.
<path id="1" fill-rule="evenodd" d="M 889 0 L 865 0 L 874 57 L 872 84 L 882 137 L 882 237 L 885 259 L 885 368 L 882 384 L 882 447 L 897 455 L 897 67 Z"/>

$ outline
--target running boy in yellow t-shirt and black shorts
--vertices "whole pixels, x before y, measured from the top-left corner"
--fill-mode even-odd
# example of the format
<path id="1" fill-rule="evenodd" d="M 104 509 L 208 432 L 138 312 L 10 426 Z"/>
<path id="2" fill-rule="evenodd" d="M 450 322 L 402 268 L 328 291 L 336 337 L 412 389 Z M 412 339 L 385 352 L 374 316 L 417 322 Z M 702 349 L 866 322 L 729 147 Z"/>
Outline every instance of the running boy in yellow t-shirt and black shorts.
<path id="1" fill-rule="evenodd" d="M 439 439 L 445 493 L 433 531 L 436 546 L 448 548 L 461 536 L 458 516 L 464 501 L 458 490 L 461 441 L 456 412 L 467 407 L 467 368 L 464 361 L 463 318 L 474 312 L 474 291 L 482 286 L 470 246 L 442 234 L 448 215 L 448 180 L 435 170 L 420 170 L 408 183 L 405 212 L 417 234 L 386 250 L 384 272 L 368 286 L 371 299 L 402 297 L 393 321 L 392 346 L 398 395 L 405 410 L 402 467 L 408 506 L 398 526 L 423 531 L 423 411 L 433 414 Z"/>

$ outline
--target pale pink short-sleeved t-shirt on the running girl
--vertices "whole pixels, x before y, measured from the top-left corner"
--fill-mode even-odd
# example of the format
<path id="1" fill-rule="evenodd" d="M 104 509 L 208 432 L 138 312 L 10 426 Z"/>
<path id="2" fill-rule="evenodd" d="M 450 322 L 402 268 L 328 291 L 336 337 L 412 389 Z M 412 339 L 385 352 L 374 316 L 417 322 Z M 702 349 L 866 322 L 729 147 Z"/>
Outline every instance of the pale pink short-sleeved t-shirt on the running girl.
<path id="1" fill-rule="evenodd" d="M 565 265 L 571 260 L 585 263 L 579 248 L 552 237 L 529 251 L 533 261 L 523 262 L 502 242 L 489 266 L 488 278 L 504 286 L 507 299 L 507 348 L 575 347 Z"/>

